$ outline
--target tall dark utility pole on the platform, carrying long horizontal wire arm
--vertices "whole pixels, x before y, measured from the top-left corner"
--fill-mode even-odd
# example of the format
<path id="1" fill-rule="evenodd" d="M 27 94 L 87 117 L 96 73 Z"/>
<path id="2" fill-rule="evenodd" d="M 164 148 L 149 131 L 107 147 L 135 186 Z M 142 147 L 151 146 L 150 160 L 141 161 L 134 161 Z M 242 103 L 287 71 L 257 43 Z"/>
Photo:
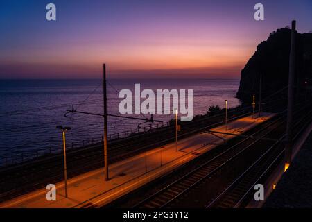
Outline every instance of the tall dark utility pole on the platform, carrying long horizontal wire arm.
<path id="1" fill-rule="evenodd" d="M 104 117 L 104 176 L 109 180 L 108 175 L 108 152 L 107 152 L 107 90 L 106 90 L 106 64 L 103 64 L 103 117 Z"/>

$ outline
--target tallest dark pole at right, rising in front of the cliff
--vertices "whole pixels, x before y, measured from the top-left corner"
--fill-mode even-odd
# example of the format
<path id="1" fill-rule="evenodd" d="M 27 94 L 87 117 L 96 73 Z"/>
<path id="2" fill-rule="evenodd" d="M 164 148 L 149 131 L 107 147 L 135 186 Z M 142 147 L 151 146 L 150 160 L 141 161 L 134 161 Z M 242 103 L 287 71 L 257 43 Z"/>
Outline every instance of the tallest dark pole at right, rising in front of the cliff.
<path id="1" fill-rule="evenodd" d="M 291 164 L 292 154 L 292 126 L 293 126 L 293 78 L 295 76 L 295 44 L 296 44 L 296 21 L 291 22 L 291 53 L 289 56 L 289 75 L 288 75 L 288 108 L 287 108 L 287 128 L 286 128 L 286 147 L 285 147 L 285 167 L 284 171 Z"/>

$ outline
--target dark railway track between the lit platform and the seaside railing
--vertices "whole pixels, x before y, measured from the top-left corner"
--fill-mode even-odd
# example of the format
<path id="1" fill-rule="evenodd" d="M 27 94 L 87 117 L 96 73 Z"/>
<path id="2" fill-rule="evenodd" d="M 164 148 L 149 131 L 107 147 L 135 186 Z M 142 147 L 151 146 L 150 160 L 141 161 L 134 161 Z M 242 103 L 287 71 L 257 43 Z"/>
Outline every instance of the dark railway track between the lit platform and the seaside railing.
<path id="1" fill-rule="evenodd" d="M 246 110 L 234 112 L 236 114 L 246 113 Z M 201 125 L 218 126 L 223 114 L 206 118 Z M 199 120 L 198 120 L 199 121 Z M 190 127 L 195 127 L 191 123 Z M 193 126 L 192 126 L 193 125 Z M 206 125 L 206 126 L 207 126 Z M 198 127 L 198 126 L 196 126 Z M 125 160 L 151 148 L 171 142 L 171 131 L 173 128 L 164 128 L 155 133 L 135 135 L 127 139 L 110 143 L 110 163 Z M 194 133 L 196 130 L 194 130 Z M 48 183 L 56 183 L 63 180 L 62 155 L 44 157 L 33 162 L 0 169 L 0 203 L 15 198 L 30 191 L 41 189 Z M 67 173 L 68 178 L 86 173 L 103 167 L 103 144 L 94 144 L 79 150 L 67 152 Z"/>

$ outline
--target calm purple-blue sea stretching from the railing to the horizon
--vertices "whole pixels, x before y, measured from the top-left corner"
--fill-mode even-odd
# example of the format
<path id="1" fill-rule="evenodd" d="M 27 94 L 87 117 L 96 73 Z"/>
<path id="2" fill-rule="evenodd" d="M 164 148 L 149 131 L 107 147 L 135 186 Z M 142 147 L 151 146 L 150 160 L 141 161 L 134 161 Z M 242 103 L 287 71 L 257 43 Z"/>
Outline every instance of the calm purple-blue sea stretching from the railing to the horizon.
<path id="1" fill-rule="evenodd" d="M 140 83 L 143 89 L 193 89 L 194 114 L 203 114 L 209 105 L 229 107 L 240 104 L 235 98 L 239 80 L 193 80 L 193 79 L 158 79 L 158 80 L 108 80 L 107 112 L 119 114 L 118 92 L 130 89 Z M 143 100 L 142 100 L 143 101 Z M 67 133 L 67 146 L 75 147 L 101 141 L 103 118 L 89 114 L 67 114 L 71 105 L 78 111 L 103 113 L 103 88 L 101 79 L 92 80 L 0 80 L 0 159 L 7 157 L 27 159 L 32 155 L 41 155 L 50 148 L 60 150 L 62 133 L 57 125 L 70 126 Z M 132 114 L 131 117 L 146 118 L 148 114 Z M 154 119 L 169 121 L 173 114 L 155 114 Z M 137 130 L 150 127 L 150 123 L 133 119 L 109 117 L 108 134 L 112 138 L 125 130 Z M 161 125 L 161 123 L 159 123 Z M 153 123 L 152 127 L 156 127 Z M 128 134 L 127 134 L 128 135 Z M 36 152 L 38 151 L 38 153 Z M 32 153 L 30 155 L 29 153 Z M 0 164 L 1 164 L 0 160 Z M 8 161 L 8 160 L 7 160 Z M 18 160 L 17 160 L 18 161 Z"/>

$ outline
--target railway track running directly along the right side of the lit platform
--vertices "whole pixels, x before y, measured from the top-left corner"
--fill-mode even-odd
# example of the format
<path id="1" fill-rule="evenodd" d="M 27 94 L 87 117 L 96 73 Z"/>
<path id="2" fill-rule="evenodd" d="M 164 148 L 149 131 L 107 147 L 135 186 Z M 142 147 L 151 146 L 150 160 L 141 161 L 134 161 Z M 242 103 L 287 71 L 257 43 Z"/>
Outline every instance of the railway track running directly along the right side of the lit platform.
<path id="1" fill-rule="evenodd" d="M 243 156 L 250 159 L 250 157 L 254 155 L 253 151 L 257 151 L 257 146 L 259 150 L 259 146 L 268 147 L 280 142 L 280 135 L 284 133 L 283 126 L 285 125 L 285 121 L 283 118 L 284 117 L 280 117 L 267 126 L 263 126 L 257 133 L 254 133 L 252 136 L 254 136 L 254 138 L 257 136 L 257 139 L 253 139 L 252 137 L 243 139 L 238 144 L 231 146 L 223 153 L 214 157 L 214 159 L 205 162 L 193 171 L 187 173 L 187 175 L 182 176 L 182 178 L 142 200 L 135 205 L 135 207 L 204 207 L 205 204 L 207 204 L 207 199 L 212 199 L 216 195 L 216 191 L 223 191 L 223 189 L 220 189 L 223 188 L 220 184 L 227 184 L 228 181 L 234 180 L 235 178 L 232 178 L 233 175 L 243 170 L 243 167 L 238 167 L 237 172 L 227 178 L 228 181 L 223 181 L 224 174 L 223 177 L 221 174 L 224 173 L 224 171 L 230 171 L 230 166 L 234 167 L 235 163 L 237 164 L 238 158 L 242 160 Z M 297 125 L 298 124 L 299 123 L 297 123 Z M 254 153 L 259 153 L 259 151 Z M 246 164 L 252 163 L 243 158 L 242 162 L 244 161 Z M 245 166 L 245 164 L 241 165 Z M 214 178 L 214 182 L 212 182 L 212 178 Z M 207 184 L 207 181 L 211 183 L 208 186 L 209 188 L 203 186 Z M 203 187 L 204 189 L 199 189 Z M 197 198 L 191 198 L 191 194 L 189 193 L 197 189 L 200 190 L 197 192 Z M 191 199 L 193 199 L 195 203 L 190 203 Z M 206 201 L 204 205 L 200 205 L 202 201 Z"/>

